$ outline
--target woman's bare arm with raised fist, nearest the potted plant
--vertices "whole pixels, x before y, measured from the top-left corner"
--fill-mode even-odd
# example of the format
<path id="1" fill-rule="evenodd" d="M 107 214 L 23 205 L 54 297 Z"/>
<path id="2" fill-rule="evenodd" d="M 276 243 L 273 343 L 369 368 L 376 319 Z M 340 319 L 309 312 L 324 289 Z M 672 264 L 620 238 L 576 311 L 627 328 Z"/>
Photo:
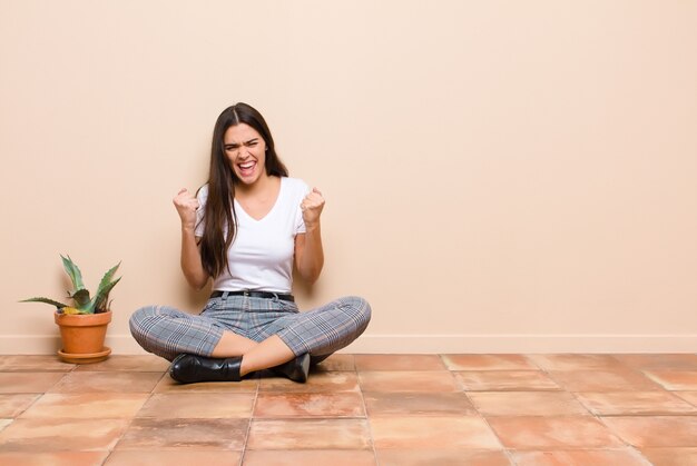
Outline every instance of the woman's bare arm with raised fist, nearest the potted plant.
<path id="1" fill-rule="evenodd" d="M 181 271 L 189 286 L 200 290 L 208 282 L 208 272 L 200 260 L 195 234 L 198 200 L 188 190 L 181 189 L 173 201 L 181 218 Z"/>

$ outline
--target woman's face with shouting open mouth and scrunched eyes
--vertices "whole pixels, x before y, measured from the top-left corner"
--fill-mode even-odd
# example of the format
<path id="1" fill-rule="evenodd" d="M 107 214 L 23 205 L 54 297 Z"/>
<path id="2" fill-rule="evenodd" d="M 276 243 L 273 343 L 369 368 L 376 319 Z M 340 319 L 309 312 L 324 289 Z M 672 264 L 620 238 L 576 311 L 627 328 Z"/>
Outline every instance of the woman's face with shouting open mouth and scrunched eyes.
<path id="1" fill-rule="evenodd" d="M 227 128 L 223 149 L 239 180 L 249 186 L 266 176 L 266 142 L 249 125 L 239 123 Z"/>

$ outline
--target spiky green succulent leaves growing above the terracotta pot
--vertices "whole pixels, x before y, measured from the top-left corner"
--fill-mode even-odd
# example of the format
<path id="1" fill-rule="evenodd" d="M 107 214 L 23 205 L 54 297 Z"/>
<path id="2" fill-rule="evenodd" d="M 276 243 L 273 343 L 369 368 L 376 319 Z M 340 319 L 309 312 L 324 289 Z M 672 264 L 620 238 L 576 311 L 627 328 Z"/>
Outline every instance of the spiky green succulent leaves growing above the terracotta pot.
<path id="1" fill-rule="evenodd" d="M 56 308 L 63 314 L 106 313 L 110 305 L 109 293 L 121 279 L 121 277 L 116 280 L 114 279 L 114 275 L 121 262 L 111 267 L 104 275 L 104 277 L 101 277 L 101 281 L 99 282 L 99 287 L 97 287 L 95 297 L 90 298 L 89 290 L 85 288 L 85 284 L 82 282 L 82 274 L 80 272 L 78 266 L 72 261 L 72 259 L 70 259 L 70 256 L 66 258 L 61 255 L 60 258 L 62 259 L 63 268 L 72 282 L 72 290 L 68 291 L 68 298 L 75 301 L 75 306 L 69 306 L 67 304 L 43 297 L 23 299 L 20 303 L 46 303 L 51 306 L 56 306 Z"/>

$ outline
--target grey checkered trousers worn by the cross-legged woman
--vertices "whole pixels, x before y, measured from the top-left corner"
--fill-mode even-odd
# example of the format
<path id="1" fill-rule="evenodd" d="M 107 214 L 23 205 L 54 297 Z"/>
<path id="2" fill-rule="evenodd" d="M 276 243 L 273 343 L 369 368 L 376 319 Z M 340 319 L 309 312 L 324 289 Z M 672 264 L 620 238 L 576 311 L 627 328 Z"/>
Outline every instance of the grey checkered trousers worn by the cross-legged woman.
<path id="1" fill-rule="evenodd" d="M 224 331 L 255 341 L 277 335 L 296 356 L 310 353 L 318 363 L 355 340 L 367 327 L 371 307 L 350 296 L 300 313 L 277 298 L 220 296 L 200 315 L 167 306 L 147 306 L 130 317 L 130 333 L 146 351 L 173 360 L 181 353 L 210 356 Z"/>

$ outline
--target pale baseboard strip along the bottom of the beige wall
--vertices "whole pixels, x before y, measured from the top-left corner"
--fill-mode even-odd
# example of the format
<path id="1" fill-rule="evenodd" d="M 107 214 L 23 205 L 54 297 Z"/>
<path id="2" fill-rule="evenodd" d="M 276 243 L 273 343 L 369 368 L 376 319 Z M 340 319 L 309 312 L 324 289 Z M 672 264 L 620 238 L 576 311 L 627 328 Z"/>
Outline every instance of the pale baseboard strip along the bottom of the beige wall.
<path id="1" fill-rule="evenodd" d="M 145 351 L 130 335 L 107 335 L 114 355 Z M 58 336 L 0 336 L 0 355 L 48 355 Z M 697 335 L 363 335 L 340 353 L 351 354 L 543 354 L 697 353 Z"/>

